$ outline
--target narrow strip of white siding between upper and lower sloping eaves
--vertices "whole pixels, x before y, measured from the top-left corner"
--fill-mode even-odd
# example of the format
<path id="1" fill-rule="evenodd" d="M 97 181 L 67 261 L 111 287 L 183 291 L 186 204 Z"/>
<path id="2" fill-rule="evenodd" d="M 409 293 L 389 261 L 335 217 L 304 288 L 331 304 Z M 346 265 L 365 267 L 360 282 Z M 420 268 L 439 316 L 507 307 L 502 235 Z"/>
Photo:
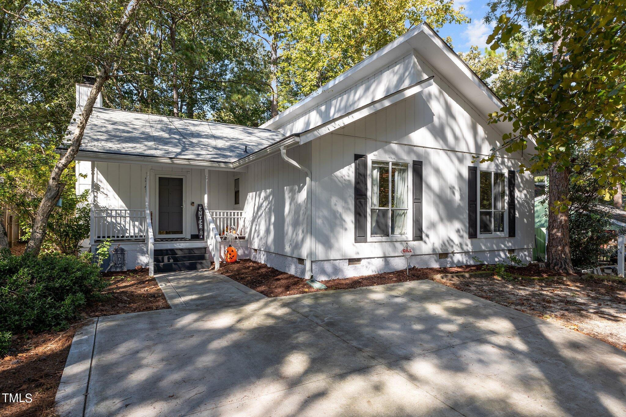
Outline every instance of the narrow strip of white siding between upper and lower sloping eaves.
<path id="1" fill-rule="evenodd" d="M 282 131 L 286 136 L 304 132 L 372 101 L 395 93 L 424 78 L 426 78 L 424 71 L 419 67 L 414 54 L 406 54 L 393 64 L 379 69 L 376 73 L 361 79 L 350 88 L 334 94 L 323 103 L 299 116 L 295 116 L 275 129 Z"/>

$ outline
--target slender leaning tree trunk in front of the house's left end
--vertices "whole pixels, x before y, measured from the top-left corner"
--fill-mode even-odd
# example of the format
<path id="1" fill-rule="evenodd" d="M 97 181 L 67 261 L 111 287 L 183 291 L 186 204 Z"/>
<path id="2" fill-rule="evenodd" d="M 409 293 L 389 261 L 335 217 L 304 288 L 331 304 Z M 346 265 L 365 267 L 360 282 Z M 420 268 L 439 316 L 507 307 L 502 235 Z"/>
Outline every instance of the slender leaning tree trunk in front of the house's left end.
<path id="1" fill-rule="evenodd" d="M 116 29 L 115 36 L 113 36 L 113 40 L 111 41 L 110 49 L 116 49 L 120 44 L 121 39 L 126 33 L 126 28 L 128 28 L 128 24 L 130 24 L 130 19 L 139 8 L 141 1 L 143 0 L 130 0 L 130 3 L 126 6 L 120 25 Z M 93 85 L 93 88 L 91 88 L 89 97 L 83 107 L 80 119 L 78 120 L 76 129 L 74 130 L 74 135 L 72 136 L 72 141 L 69 144 L 68 151 L 57 161 L 52 169 L 52 172 L 50 173 L 48 187 L 46 188 L 46 193 L 44 194 L 43 199 L 41 199 L 41 203 L 39 203 L 39 207 L 33 221 L 31 238 L 28 240 L 24 252 L 38 255 L 39 251 L 41 251 L 41 244 L 43 243 L 44 238 L 46 238 L 46 231 L 48 230 L 48 218 L 50 217 L 50 213 L 52 213 L 52 210 L 54 209 L 56 202 L 59 200 L 59 196 L 61 196 L 61 192 L 65 186 L 65 184 L 61 183 L 61 174 L 63 174 L 63 171 L 65 171 L 74 158 L 76 158 L 78 149 L 80 149 L 81 142 L 83 141 L 83 133 L 85 133 L 87 121 L 93 112 L 93 105 L 96 103 L 96 98 L 98 98 L 98 94 L 102 91 L 105 81 L 111 76 L 111 67 L 114 63 L 113 59 L 111 62 L 102 65 L 100 71 L 98 71 L 96 83 Z"/>

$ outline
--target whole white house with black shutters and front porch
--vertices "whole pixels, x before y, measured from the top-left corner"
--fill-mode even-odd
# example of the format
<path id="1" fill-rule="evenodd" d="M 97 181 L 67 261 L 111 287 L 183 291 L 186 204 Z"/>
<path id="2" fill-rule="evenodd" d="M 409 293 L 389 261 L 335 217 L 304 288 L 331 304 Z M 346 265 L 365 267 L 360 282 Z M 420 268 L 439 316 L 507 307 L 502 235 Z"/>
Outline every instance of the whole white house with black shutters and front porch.
<path id="1" fill-rule="evenodd" d="M 426 24 L 260 128 L 98 105 L 77 192 L 91 189 L 91 249 L 115 239 L 129 268 L 206 267 L 229 225 L 240 256 L 316 279 L 403 269 L 405 244 L 418 267 L 530 259 L 530 151 L 473 161 L 511 124 L 488 124 L 500 99 Z"/>

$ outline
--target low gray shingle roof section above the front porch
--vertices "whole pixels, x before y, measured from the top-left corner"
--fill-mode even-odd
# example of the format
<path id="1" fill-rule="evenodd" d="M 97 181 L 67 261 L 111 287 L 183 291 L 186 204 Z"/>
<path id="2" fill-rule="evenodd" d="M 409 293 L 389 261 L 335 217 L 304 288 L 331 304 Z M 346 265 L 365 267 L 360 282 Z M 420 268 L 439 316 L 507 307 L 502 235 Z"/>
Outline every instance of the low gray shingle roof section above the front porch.
<path id="1" fill-rule="evenodd" d="M 78 114 L 80 109 L 69 124 L 69 134 L 78 123 Z M 80 150 L 233 162 L 284 137 L 284 134 L 269 129 L 94 108 Z"/>

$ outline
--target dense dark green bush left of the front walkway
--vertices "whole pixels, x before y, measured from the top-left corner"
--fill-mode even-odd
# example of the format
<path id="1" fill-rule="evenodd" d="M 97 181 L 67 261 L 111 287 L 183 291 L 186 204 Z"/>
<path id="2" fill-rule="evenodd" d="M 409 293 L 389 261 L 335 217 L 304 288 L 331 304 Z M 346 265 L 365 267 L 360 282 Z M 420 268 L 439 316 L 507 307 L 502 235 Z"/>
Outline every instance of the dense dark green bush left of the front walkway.
<path id="1" fill-rule="evenodd" d="M 84 257 L 48 253 L 37 258 L 4 251 L 0 254 L 0 331 L 66 328 L 78 308 L 101 296 L 107 284 L 98 266 Z"/>

